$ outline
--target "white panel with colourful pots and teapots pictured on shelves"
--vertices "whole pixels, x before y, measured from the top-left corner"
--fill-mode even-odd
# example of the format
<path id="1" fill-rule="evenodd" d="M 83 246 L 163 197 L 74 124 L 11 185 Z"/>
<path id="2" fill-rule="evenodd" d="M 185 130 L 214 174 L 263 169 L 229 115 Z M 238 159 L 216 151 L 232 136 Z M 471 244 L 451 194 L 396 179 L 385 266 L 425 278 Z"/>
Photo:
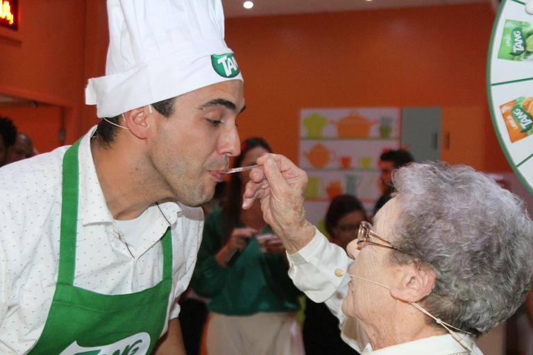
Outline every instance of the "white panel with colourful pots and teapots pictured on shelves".
<path id="1" fill-rule="evenodd" d="M 303 108 L 299 166 L 308 175 L 305 211 L 323 228 L 330 200 L 357 196 L 367 213 L 381 195 L 380 155 L 400 148 L 400 107 Z"/>

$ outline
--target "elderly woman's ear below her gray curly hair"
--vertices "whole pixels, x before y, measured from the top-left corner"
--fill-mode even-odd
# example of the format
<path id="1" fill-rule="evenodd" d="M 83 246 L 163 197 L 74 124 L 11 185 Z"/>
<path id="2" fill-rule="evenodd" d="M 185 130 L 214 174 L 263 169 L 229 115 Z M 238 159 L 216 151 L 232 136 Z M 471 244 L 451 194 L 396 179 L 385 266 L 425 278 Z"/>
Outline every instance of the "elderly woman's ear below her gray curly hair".
<path id="1" fill-rule="evenodd" d="M 428 266 L 412 262 L 396 266 L 394 272 L 391 295 L 397 300 L 418 302 L 431 293 L 435 284 L 435 272 Z"/>

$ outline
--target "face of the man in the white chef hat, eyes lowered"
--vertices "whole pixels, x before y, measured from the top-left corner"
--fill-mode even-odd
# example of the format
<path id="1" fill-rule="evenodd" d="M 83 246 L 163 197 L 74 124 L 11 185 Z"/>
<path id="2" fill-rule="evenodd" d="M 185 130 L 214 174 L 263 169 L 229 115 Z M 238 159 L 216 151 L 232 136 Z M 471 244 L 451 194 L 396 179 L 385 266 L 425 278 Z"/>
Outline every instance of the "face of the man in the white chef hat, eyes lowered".
<path id="1" fill-rule="evenodd" d="M 240 153 L 235 120 L 243 109 L 242 81 L 228 80 L 178 96 L 168 118 L 153 112 L 148 154 L 172 199 L 188 206 L 211 200 L 229 157 Z"/>

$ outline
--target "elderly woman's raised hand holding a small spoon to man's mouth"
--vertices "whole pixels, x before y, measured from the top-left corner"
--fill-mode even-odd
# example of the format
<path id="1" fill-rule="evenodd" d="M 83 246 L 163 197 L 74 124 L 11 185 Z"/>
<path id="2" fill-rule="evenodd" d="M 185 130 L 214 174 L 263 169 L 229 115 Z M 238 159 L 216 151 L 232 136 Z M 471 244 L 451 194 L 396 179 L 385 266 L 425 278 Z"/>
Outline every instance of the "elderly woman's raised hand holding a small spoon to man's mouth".
<path id="1" fill-rule="evenodd" d="M 280 237 L 289 254 L 294 254 L 314 236 L 314 227 L 305 220 L 303 192 L 307 174 L 282 155 L 267 153 L 257 159 L 243 195 L 247 209 L 259 199 L 263 218 Z"/>

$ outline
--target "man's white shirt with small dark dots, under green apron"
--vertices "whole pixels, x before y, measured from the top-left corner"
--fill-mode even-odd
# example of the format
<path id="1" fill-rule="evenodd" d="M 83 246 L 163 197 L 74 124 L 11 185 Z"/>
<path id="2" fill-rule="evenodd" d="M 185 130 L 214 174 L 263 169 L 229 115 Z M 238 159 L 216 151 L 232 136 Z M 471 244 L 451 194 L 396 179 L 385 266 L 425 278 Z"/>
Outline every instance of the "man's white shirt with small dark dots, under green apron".
<path id="1" fill-rule="evenodd" d="M 135 248 L 129 248 L 105 205 L 90 152 L 79 148 L 79 202 L 74 285 L 107 295 L 134 293 L 162 279 L 160 238 L 167 220 L 157 206 Z M 25 354 L 37 342 L 58 277 L 62 158 L 68 147 L 0 168 L 0 354 Z M 203 212 L 174 202 L 160 205 L 171 223 L 173 279 L 167 318 L 192 276 Z M 149 305 L 146 305 L 149 306 Z M 167 330 L 165 326 L 164 332 Z"/>

